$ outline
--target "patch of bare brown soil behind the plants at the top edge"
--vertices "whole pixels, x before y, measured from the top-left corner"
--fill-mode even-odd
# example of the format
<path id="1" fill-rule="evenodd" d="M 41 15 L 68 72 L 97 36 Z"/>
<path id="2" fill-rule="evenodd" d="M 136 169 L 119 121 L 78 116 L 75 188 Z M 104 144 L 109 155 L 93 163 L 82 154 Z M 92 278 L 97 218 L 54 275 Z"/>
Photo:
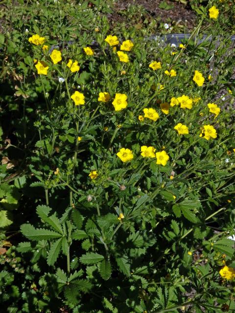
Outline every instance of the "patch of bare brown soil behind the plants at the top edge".
<path id="1" fill-rule="evenodd" d="M 124 22 L 126 17 L 121 14 L 126 10 L 128 5 L 141 5 L 146 10 L 146 17 L 157 18 L 160 22 L 168 22 L 183 24 L 190 31 L 196 25 L 196 15 L 189 5 L 184 5 L 177 1 L 164 0 L 168 5 L 174 6 L 172 9 L 166 10 L 160 8 L 163 0 L 116 0 L 114 3 L 114 13 L 110 14 L 111 22 Z M 142 17 L 140 16 L 140 19 Z"/>

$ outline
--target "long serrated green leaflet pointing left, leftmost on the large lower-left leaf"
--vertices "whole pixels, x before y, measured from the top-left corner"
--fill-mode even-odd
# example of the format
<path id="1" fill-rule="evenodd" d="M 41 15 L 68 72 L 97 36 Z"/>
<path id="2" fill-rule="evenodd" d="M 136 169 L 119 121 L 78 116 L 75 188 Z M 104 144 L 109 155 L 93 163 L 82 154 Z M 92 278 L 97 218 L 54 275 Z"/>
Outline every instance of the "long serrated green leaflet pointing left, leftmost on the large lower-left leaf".
<path id="1" fill-rule="evenodd" d="M 30 224 L 21 225 L 21 232 L 26 238 L 33 241 L 56 239 L 61 237 L 61 234 L 56 233 L 55 231 L 44 228 L 37 229 Z"/>

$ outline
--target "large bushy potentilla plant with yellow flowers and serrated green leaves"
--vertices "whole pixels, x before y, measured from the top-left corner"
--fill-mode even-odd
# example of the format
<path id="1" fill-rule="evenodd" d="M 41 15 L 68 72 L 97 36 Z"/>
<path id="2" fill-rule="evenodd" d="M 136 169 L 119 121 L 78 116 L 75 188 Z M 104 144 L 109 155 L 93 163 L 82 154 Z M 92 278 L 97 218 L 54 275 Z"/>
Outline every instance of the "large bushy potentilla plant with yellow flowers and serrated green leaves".
<path id="1" fill-rule="evenodd" d="M 16 247 L 37 273 L 19 312 L 233 312 L 234 52 L 199 43 L 222 14 L 201 13 L 179 47 L 118 37 L 104 18 L 87 44 L 29 32 L 28 170 L 45 197 Z"/>

